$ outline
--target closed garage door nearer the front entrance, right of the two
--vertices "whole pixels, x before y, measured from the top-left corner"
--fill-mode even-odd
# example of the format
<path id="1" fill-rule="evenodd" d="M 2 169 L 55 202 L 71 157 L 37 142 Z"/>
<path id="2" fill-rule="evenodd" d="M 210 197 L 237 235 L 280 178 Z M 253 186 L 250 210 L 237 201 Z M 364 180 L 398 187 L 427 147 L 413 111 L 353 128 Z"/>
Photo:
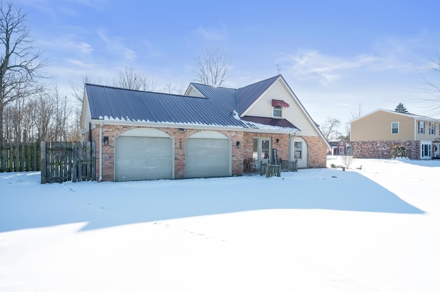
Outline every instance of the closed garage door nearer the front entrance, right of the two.
<path id="1" fill-rule="evenodd" d="M 231 175 L 231 143 L 228 138 L 188 138 L 186 178 Z"/>

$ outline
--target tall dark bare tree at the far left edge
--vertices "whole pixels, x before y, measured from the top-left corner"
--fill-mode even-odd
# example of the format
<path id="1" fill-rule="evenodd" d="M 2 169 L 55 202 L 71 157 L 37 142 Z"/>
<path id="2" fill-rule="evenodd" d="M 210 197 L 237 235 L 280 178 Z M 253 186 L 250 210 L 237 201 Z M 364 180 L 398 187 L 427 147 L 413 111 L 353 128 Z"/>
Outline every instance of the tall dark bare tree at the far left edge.
<path id="1" fill-rule="evenodd" d="M 0 142 L 3 141 L 3 109 L 19 97 L 41 90 L 36 81 L 45 66 L 42 53 L 32 46 L 26 14 L 12 3 L 0 2 Z"/>

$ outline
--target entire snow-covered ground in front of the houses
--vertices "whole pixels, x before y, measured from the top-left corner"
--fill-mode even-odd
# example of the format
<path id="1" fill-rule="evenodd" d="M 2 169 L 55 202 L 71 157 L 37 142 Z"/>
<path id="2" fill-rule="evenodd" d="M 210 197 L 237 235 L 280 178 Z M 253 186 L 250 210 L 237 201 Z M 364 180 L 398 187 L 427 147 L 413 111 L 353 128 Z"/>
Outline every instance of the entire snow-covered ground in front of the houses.
<path id="1" fill-rule="evenodd" d="M 439 291 L 440 160 L 352 168 L 63 184 L 0 173 L 0 291 Z"/>

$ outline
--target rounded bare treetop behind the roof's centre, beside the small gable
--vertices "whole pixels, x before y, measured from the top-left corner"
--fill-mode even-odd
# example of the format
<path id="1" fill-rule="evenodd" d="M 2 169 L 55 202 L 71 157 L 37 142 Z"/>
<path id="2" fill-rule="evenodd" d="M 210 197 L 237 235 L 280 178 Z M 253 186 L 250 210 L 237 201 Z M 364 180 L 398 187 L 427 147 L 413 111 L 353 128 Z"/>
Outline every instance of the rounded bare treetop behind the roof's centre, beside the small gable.
<path id="1" fill-rule="evenodd" d="M 202 84 L 221 86 L 229 75 L 232 58 L 220 48 L 207 49 L 197 54 L 195 65 L 196 80 Z"/>

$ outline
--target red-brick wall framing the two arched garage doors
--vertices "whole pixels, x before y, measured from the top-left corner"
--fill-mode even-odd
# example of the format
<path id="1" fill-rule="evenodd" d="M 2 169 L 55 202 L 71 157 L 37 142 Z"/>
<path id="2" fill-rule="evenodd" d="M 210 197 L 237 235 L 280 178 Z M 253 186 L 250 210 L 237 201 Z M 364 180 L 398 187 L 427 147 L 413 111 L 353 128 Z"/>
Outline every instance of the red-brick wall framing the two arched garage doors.
<path id="1" fill-rule="evenodd" d="M 104 125 L 102 127 L 102 136 L 109 137 L 109 145 L 102 145 L 102 180 L 115 180 L 115 138 L 128 130 L 137 127 L 126 125 Z M 186 132 L 178 131 L 177 128 L 152 127 L 153 129 L 165 132 L 174 138 L 175 143 L 175 178 L 185 178 L 185 143 L 186 139 L 192 134 L 203 132 L 203 130 L 195 130 L 186 128 Z M 232 141 L 232 175 L 243 175 L 243 147 L 236 147 L 236 141 L 243 141 L 243 132 L 236 131 L 216 131 Z M 88 138 L 88 133 L 85 135 Z M 86 138 L 86 139 L 87 139 Z M 92 139 L 96 141 L 96 180 L 99 177 L 99 125 L 92 130 Z"/>

